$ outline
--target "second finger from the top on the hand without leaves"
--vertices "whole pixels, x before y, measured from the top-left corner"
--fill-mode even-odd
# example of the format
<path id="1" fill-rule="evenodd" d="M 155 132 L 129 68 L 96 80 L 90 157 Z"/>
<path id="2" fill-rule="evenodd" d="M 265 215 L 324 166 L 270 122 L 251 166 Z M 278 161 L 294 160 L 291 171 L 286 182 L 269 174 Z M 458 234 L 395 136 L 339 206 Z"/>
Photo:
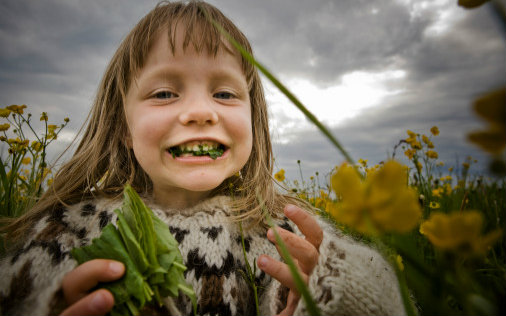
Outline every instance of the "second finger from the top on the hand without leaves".
<path id="1" fill-rule="evenodd" d="M 302 237 L 297 236 L 292 232 L 289 232 L 280 227 L 276 227 L 276 231 L 278 232 L 279 237 L 281 237 L 285 243 L 290 255 L 297 259 L 299 262 L 302 271 L 310 274 L 318 263 L 318 250 L 316 250 L 313 244 L 311 244 L 309 241 L 304 240 Z M 267 238 L 276 244 L 276 248 L 281 254 L 276 242 L 276 236 L 274 235 L 272 228 L 267 231 Z"/>

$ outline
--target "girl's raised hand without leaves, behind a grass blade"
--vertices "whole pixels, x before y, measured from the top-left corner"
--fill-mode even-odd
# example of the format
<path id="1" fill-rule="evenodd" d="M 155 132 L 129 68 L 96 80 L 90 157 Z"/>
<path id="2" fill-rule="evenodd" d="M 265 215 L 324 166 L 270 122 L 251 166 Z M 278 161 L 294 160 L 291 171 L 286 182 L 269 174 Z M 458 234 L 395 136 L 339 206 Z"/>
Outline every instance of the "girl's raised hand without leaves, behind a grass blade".
<path id="1" fill-rule="evenodd" d="M 318 222 L 310 214 L 299 207 L 295 205 L 287 205 L 285 206 L 284 212 L 306 237 L 303 239 L 294 233 L 277 227 L 279 236 L 285 243 L 290 255 L 293 257 L 296 265 L 298 266 L 300 275 L 307 284 L 311 272 L 318 263 L 318 248 L 323 240 L 323 232 L 320 225 L 318 225 Z M 276 244 L 276 237 L 272 229 L 267 231 L 267 238 Z M 276 247 L 281 255 L 277 244 Z M 258 267 L 290 289 L 286 307 L 281 311 L 280 315 L 293 315 L 295 308 L 297 307 L 297 303 L 299 302 L 300 294 L 297 292 L 297 288 L 288 265 L 267 255 L 261 255 L 258 258 Z"/>

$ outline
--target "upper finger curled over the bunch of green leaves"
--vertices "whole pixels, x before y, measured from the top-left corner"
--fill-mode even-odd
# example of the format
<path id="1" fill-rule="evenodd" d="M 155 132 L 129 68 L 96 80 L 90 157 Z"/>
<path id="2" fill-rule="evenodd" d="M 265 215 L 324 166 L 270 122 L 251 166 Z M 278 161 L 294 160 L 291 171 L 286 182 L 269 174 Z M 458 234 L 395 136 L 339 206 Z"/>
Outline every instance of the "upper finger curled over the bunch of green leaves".
<path id="1" fill-rule="evenodd" d="M 119 279 L 125 272 L 123 263 L 107 259 L 87 261 L 63 278 L 63 293 L 67 303 L 72 304 L 88 294 L 98 282 L 109 282 Z"/>

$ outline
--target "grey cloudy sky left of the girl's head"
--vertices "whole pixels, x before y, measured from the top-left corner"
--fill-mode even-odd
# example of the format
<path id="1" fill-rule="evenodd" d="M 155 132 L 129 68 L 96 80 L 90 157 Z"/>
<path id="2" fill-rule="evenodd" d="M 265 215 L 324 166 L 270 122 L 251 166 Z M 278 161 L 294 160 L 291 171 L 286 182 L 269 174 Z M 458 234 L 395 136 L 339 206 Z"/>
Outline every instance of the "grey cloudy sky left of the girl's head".
<path id="1" fill-rule="evenodd" d="M 76 131 L 110 57 L 154 1 L 2 1 L 0 106 L 27 104 Z M 53 145 L 58 146 L 58 145 Z"/>

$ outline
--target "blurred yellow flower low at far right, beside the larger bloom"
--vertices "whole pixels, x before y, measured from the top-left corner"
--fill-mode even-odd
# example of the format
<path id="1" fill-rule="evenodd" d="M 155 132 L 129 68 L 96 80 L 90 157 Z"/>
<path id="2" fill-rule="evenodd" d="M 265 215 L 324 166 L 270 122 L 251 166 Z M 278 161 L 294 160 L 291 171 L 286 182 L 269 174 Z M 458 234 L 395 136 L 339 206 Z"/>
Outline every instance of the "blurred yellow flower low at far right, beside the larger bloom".
<path id="1" fill-rule="evenodd" d="M 479 211 L 463 211 L 444 214 L 432 212 L 420 225 L 425 235 L 437 248 L 463 255 L 485 254 L 486 250 L 502 235 L 500 229 L 482 235 L 483 215 Z"/>

